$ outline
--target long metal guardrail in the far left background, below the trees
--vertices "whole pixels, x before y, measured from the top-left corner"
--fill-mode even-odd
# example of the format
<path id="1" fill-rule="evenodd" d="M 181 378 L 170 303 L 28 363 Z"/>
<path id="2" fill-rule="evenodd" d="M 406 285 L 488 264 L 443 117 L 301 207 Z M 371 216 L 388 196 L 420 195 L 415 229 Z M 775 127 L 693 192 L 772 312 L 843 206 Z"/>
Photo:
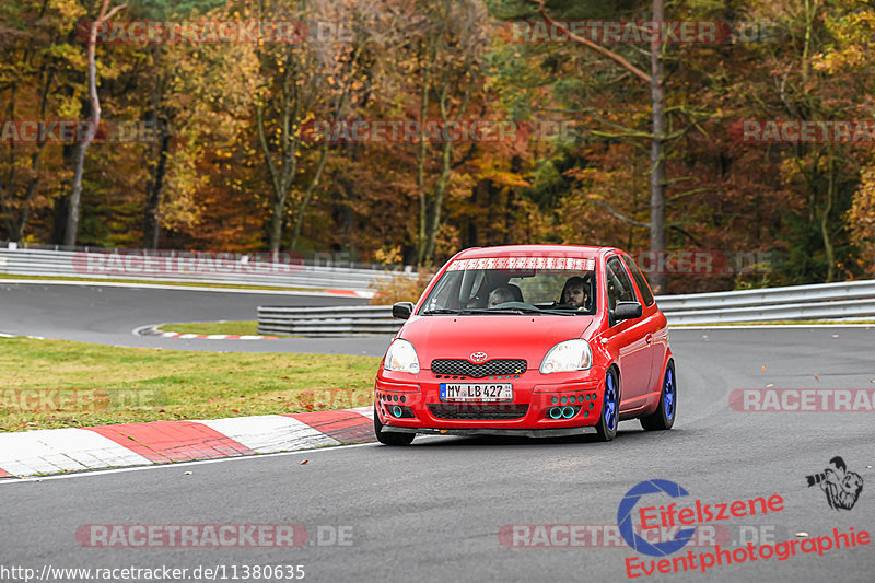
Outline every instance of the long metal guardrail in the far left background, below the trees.
<path id="1" fill-rule="evenodd" d="M 0 273 L 180 283 L 231 283 L 278 288 L 368 291 L 409 271 L 307 265 L 290 254 L 255 255 L 143 250 L 46 250 L 0 248 Z"/>

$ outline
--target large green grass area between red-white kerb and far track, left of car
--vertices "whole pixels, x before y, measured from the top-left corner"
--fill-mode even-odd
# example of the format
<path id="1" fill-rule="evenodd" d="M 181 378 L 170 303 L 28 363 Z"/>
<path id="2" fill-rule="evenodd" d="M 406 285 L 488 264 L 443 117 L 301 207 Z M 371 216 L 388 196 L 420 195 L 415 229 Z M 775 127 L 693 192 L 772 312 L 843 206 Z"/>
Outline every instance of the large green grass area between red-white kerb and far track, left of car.
<path id="1" fill-rule="evenodd" d="M 0 431 L 362 407 L 378 363 L 2 338 Z"/>

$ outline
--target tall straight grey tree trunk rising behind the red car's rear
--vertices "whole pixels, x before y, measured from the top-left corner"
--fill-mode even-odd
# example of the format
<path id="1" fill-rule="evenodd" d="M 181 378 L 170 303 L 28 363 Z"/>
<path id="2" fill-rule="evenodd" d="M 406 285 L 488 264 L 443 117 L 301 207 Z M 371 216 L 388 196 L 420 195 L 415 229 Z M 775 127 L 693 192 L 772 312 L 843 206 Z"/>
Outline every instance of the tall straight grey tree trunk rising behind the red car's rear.
<path id="1" fill-rule="evenodd" d="M 653 0 L 653 20 L 665 21 L 664 0 Z M 653 104 L 653 139 L 650 161 L 650 250 L 655 254 L 665 250 L 665 91 L 663 88 L 663 43 L 654 40 L 650 45 L 651 78 L 650 91 Z M 656 272 L 651 278 L 655 293 L 665 293 L 665 273 Z"/>

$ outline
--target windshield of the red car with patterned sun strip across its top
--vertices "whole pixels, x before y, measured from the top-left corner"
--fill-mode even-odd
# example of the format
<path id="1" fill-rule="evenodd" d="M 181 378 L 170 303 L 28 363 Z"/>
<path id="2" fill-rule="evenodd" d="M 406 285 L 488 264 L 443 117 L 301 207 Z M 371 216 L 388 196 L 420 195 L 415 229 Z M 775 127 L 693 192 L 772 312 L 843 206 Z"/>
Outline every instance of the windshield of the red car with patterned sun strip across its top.
<path id="1" fill-rule="evenodd" d="M 593 315 L 594 264 L 544 257 L 456 260 L 419 314 Z"/>

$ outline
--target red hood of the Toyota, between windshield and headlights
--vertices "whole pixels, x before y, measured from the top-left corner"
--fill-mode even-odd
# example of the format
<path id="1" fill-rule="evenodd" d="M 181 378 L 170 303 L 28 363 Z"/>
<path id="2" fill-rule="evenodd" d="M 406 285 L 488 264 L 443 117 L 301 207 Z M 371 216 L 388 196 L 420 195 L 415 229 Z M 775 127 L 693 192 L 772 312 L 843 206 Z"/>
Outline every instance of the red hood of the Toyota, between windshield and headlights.
<path id="1" fill-rule="evenodd" d="M 399 338 L 417 350 L 422 368 L 434 359 L 470 360 L 486 352 L 487 360 L 526 359 L 537 366 L 547 351 L 563 340 L 581 338 L 593 316 L 415 316 Z"/>

